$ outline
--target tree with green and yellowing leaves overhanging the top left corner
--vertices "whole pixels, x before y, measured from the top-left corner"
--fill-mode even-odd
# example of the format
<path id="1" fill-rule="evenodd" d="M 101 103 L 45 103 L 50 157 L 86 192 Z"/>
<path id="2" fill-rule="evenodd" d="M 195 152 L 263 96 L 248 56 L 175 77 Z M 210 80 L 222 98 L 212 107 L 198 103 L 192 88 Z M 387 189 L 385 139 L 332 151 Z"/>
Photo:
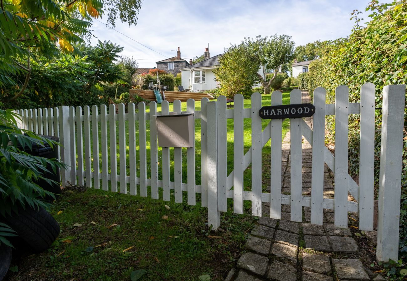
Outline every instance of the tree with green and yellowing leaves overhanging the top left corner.
<path id="1" fill-rule="evenodd" d="M 92 19 L 101 17 L 103 8 L 110 23 L 119 13 L 122 21 L 136 24 L 140 0 L 0 0 L 0 87 L 14 86 L 9 101 L 25 92 L 33 53 L 47 58 L 79 54 L 75 45 L 90 36 Z M 13 80 L 21 73 L 24 82 Z"/>

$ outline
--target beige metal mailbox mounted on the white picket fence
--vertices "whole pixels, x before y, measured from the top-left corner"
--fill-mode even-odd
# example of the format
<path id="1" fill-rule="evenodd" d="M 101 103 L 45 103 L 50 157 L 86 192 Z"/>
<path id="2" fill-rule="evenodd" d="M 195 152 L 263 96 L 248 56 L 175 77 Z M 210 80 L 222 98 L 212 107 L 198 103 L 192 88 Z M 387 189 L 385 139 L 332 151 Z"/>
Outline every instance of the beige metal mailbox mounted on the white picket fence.
<path id="1" fill-rule="evenodd" d="M 194 114 L 154 115 L 157 124 L 158 146 L 194 147 Z"/>

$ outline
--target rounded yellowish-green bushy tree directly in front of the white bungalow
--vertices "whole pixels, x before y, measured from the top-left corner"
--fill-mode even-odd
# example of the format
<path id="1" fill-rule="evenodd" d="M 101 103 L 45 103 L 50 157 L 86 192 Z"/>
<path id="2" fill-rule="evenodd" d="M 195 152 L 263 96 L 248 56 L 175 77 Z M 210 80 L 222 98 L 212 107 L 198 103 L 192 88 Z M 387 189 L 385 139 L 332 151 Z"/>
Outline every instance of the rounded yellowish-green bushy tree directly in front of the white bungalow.
<path id="1" fill-rule="evenodd" d="M 236 94 L 251 95 L 252 86 L 258 81 L 259 63 L 244 44 L 232 45 L 219 56 L 220 67 L 213 72 L 220 82 L 220 94 L 233 97 Z"/>

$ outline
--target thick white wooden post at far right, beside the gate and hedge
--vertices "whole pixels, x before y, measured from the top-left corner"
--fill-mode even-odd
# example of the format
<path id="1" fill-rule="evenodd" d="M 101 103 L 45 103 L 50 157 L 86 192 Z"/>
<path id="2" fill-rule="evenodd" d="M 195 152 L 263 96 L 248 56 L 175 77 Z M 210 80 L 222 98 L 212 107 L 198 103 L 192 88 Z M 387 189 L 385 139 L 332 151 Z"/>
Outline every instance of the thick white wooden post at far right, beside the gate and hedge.
<path id="1" fill-rule="evenodd" d="M 405 85 L 383 88 L 376 258 L 398 259 Z"/>

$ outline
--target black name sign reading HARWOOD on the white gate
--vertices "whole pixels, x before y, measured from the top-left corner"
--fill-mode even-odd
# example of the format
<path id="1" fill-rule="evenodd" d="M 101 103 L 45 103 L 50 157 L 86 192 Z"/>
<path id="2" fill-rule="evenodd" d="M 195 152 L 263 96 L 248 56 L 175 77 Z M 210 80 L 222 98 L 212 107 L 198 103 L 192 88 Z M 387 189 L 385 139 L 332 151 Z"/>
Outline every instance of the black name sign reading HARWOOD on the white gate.
<path id="1" fill-rule="evenodd" d="M 311 117 L 315 113 L 313 104 L 286 104 L 280 106 L 263 106 L 259 115 L 262 119 L 284 119 Z"/>

